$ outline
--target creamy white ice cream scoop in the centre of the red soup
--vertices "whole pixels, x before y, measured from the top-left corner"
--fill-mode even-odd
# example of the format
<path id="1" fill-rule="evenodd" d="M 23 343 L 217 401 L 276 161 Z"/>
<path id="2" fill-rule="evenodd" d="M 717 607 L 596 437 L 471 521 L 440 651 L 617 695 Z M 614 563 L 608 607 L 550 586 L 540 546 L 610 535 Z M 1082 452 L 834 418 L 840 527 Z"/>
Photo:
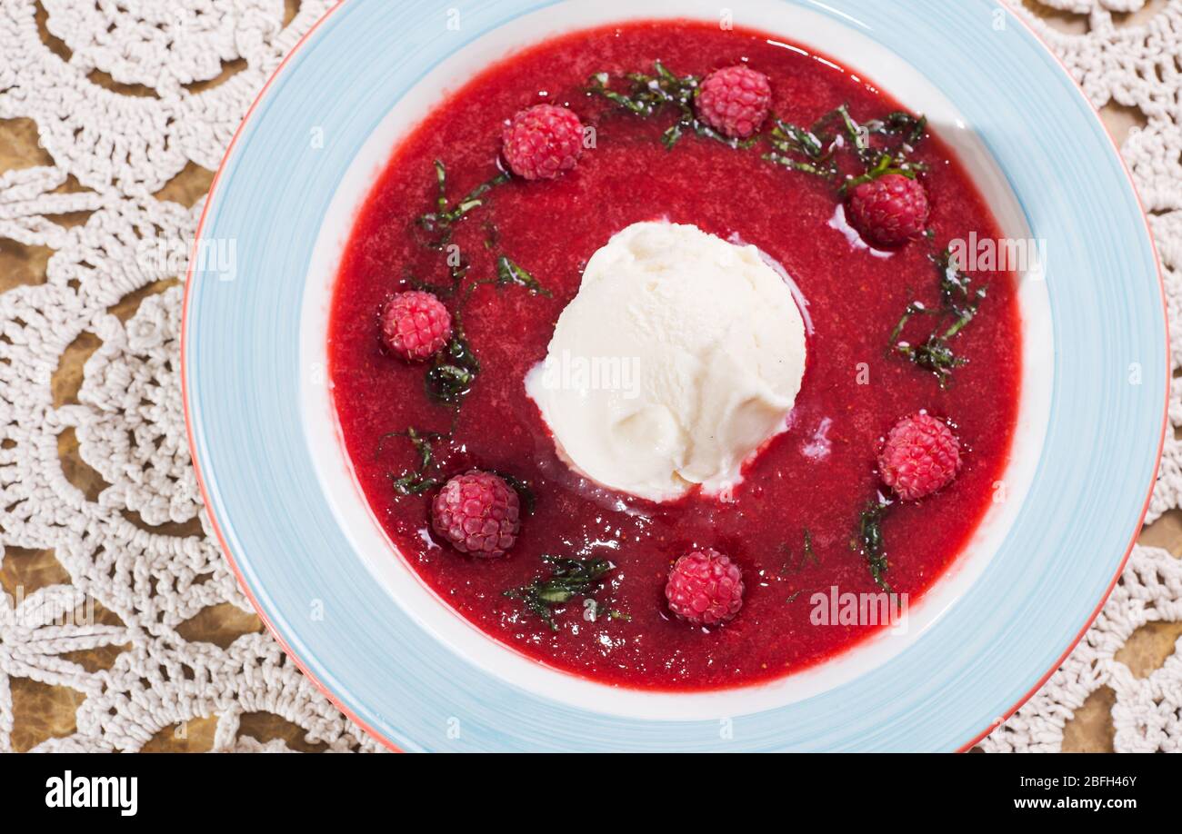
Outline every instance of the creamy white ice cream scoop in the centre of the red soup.
<path id="1" fill-rule="evenodd" d="M 576 470 L 670 501 L 738 483 L 804 370 L 800 311 L 755 247 L 648 222 L 587 261 L 526 391 Z"/>

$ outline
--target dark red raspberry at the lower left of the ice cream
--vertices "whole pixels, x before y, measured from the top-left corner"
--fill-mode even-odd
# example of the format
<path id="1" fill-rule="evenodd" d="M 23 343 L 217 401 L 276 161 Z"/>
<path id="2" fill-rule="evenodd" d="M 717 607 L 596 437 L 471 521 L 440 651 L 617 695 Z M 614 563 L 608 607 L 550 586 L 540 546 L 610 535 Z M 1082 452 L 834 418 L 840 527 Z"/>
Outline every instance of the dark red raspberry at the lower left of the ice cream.
<path id="1" fill-rule="evenodd" d="M 431 506 L 435 532 L 460 553 L 495 559 L 521 528 L 517 490 L 492 473 L 473 469 L 443 484 Z"/>

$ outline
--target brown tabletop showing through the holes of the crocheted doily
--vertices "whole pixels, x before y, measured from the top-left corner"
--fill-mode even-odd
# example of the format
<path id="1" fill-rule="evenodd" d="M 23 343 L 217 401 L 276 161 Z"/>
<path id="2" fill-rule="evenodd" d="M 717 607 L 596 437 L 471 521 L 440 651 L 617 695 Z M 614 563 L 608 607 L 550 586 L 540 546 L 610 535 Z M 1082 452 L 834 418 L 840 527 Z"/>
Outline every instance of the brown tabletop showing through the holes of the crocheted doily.
<path id="1" fill-rule="evenodd" d="M 1045 6 L 1026 0 L 1035 12 L 1048 19 L 1054 26 L 1069 32 L 1084 32 L 1087 19 L 1084 15 L 1060 13 Z M 1123 15 L 1122 25 L 1134 25 L 1155 14 L 1165 0 L 1150 0 L 1145 9 L 1132 15 Z M 297 0 L 287 0 L 290 13 Z M 41 34 L 45 41 L 61 54 L 65 46 L 57 41 L 44 26 L 44 12 L 38 15 Z M 217 79 L 207 83 L 214 86 L 226 80 L 238 69 L 228 64 Z M 115 84 L 103 73 L 95 73 L 98 83 L 118 89 L 126 95 L 143 95 L 144 91 Z M 1102 111 L 1105 124 L 1118 143 L 1123 142 L 1130 130 L 1143 125 L 1144 116 L 1134 107 L 1111 105 Z M 37 126 L 30 119 L 0 119 L 0 174 L 12 169 L 50 165 L 52 158 L 38 146 Z M 157 197 L 193 206 L 209 189 L 213 172 L 191 163 L 169 182 Z M 60 191 L 79 191 L 83 189 L 73 177 L 63 185 Z M 73 227 L 85 223 L 89 213 L 63 215 L 54 222 Z M 45 247 L 22 246 L 15 241 L 0 237 L 0 292 L 21 285 L 37 285 L 45 281 L 46 263 L 52 250 Z M 111 312 L 121 319 L 128 319 L 138 308 L 139 302 L 154 293 L 175 285 L 176 279 L 158 281 L 128 295 Z M 83 333 L 66 350 L 60 366 L 52 378 L 53 400 L 56 405 L 76 403 L 78 389 L 83 379 L 83 365 L 99 346 L 99 340 L 92 333 Z M 78 455 L 78 442 L 72 430 L 66 430 L 58 438 L 58 455 L 66 478 L 80 489 L 90 500 L 96 500 L 105 489 L 103 478 L 86 465 Z M 181 526 L 149 527 L 132 515 L 134 523 L 155 533 L 173 535 L 194 535 L 200 533 L 196 522 Z M 1170 510 L 1156 523 L 1147 527 L 1141 542 L 1163 547 L 1182 558 L 1182 510 Z M 0 587 L 7 593 L 17 593 L 24 587 L 27 595 L 46 585 L 69 582 L 70 576 L 57 562 L 52 550 L 27 550 L 7 548 L 4 566 L 0 568 Z M 99 611 L 100 621 L 118 624 L 119 620 L 110 612 Z M 187 640 L 199 640 L 228 646 L 236 637 L 261 631 L 262 624 L 254 614 L 245 614 L 230 605 L 206 608 L 197 617 L 178 628 Z M 1136 632 L 1125 647 L 1117 653 L 1117 659 L 1125 663 L 1134 675 L 1148 676 L 1164 663 L 1174 652 L 1174 644 L 1182 636 L 1182 624 L 1150 624 Z M 77 652 L 67 656 L 87 670 L 109 669 L 124 647 L 111 647 L 97 651 Z M 27 750 L 46 738 L 66 736 L 76 730 L 74 710 L 83 701 L 83 695 L 64 686 L 47 686 L 27 678 L 13 678 L 12 696 L 15 712 L 15 730 L 12 735 L 17 750 Z M 1064 734 L 1064 750 L 1070 751 L 1111 751 L 1112 719 L 1110 710 L 1115 696 L 1110 689 L 1102 688 L 1095 692 L 1084 706 L 1069 722 Z M 203 751 L 213 743 L 216 718 L 210 717 L 188 722 L 186 727 L 169 727 L 152 738 L 145 750 L 160 751 Z M 256 712 L 243 716 L 241 732 L 259 741 L 282 738 L 288 747 L 297 750 L 318 750 L 322 745 L 307 744 L 303 730 L 279 716 Z"/>

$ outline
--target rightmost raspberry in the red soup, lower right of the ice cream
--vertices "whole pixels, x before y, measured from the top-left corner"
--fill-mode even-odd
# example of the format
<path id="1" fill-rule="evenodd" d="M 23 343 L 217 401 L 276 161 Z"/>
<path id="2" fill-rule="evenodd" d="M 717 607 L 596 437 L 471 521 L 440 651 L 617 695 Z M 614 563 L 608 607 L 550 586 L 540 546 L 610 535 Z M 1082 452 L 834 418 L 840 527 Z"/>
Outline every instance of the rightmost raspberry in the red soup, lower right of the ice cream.
<path id="1" fill-rule="evenodd" d="M 956 435 L 926 411 L 896 423 L 878 455 L 883 483 L 904 501 L 918 501 L 947 487 L 960 465 Z"/>

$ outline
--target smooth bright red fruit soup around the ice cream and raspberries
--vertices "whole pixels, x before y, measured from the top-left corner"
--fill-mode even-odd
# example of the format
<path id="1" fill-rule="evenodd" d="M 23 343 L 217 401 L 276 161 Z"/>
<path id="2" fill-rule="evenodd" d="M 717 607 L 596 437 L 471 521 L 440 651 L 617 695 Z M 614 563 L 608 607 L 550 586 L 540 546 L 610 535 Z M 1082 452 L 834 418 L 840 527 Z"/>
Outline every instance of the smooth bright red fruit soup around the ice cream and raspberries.
<path id="1" fill-rule="evenodd" d="M 963 549 L 1006 467 L 1021 376 L 1015 279 L 970 274 L 972 297 L 953 288 L 942 298 L 947 275 L 937 262 L 950 241 L 970 233 L 1000 237 L 989 209 L 948 148 L 928 136 L 908 158 L 927 167 L 920 180 L 931 201 L 930 236 L 889 258 L 851 242 L 832 222 L 839 181 L 764 158 L 773 118 L 813 125 L 844 104 L 853 120 L 875 128 L 902 107 L 849 71 L 782 43 L 689 21 L 630 22 L 543 43 L 442 99 L 397 148 L 357 216 L 330 325 L 333 397 L 357 477 L 390 539 L 447 604 L 553 667 L 686 691 L 764 682 L 830 658 L 882 626 L 816 625 L 813 594 L 875 594 L 885 585 L 914 604 Z M 610 89 L 629 93 L 626 74 L 654 73 L 656 61 L 678 77 L 702 78 L 741 61 L 765 73 L 773 116 L 756 144 L 735 149 L 690 130 L 667 150 L 661 136 L 678 118 L 675 106 L 637 116 L 587 91 L 589 79 L 606 72 Z M 595 129 L 577 167 L 554 180 L 496 184 L 446 229 L 437 219 L 427 228 L 417 222 L 439 213 L 435 161 L 443 163 L 453 208 L 498 176 L 506 119 L 538 103 L 569 106 Z M 882 138 L 876 133 L 873 142 Z M 853 145 L 839 144 L 849 172 L 858 164 Z M 758 246 L 807 299 L 813 331 L 791 428 L 749 463 L 727 501 L 691 494 L 654 504 L 584 488 L 557 457 L 525 393 L 522 380 L 545 359 L 587 259 L 630 223 L 661 219 Z M 545 292 L 514 280 L 520 272 L 499 273 L 501 258 Z M 449 294 L 453 273 L 460 289 Z M 424 284 L 440 288 L 479 360 L 455 408 L 428 396 L 430 363 L 409 364 L 382 346 L 383 305 Z M 976 288 L 986 286 L 978 299 Z M 929 367 L 891 350 L 892 331 L 915 301 L 929 312 L 914 314 L 897 337 L 911 345 L 947 331 L 956 312 L 946 304 L 962 313 L 979 305 L 947 343 L 967 364 L 946 357 L 943 386 Z M 963 467 L 937 494 L 895 501 L 882 514 L 883 562 L 862 535 L 864 512 L 885 489 L 877 455 L 896 421 L 921 409 L 955 426 Z M 431 461 L 422 467 L 426 444 Z M 535 499 L 506 558 L 463 555 L 431 530 L 439 484 L 473 468 L 511 475 Z M 866 532 L 872 539 L 875 526 Z M 738 617 L 714 628 L 674 618 L 663 593 L 673 562 L 707 547 L 735 560 L 746 585 Z M 615 567 L 583 594 L 531 608 L 520 589 L 551 576 L 544 555 Z M 882 584 L 876 561 L 885 565 Z"/>

